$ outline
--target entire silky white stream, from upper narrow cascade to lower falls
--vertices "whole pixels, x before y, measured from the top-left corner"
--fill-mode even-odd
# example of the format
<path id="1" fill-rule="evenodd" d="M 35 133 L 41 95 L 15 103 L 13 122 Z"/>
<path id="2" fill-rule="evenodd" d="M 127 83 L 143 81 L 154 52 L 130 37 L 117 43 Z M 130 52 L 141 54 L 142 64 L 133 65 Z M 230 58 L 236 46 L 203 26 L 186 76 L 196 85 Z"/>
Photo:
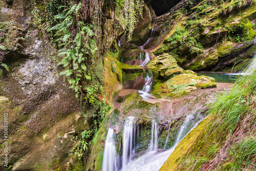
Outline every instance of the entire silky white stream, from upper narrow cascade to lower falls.
<path id="1" fill-rule="evenodd" d="M 157 27 L 158 28 L 158 27 Z M 157 28 L 153 28 L 151 32 L 151 37 L 145 42 L 143 46 L 140 48 L 144 50 L 144 47 L 147 46 L 148 42 L 150 42 L 155 36 L 155 31 Z M 141 60 L 141 65 L 144 67 L 150 61 L 150 54 L 145 51 L 145 59 Z M 153 74 L 152 72 L 145 68 L 145 83 L 141 90 L 138 90 L 138 94 L 143 99 L 149 99 L 152 97 L 150 94 L 153 82 Z M 165 145 L 163 149 L 158 148 L 158 140 L 160 137 L 160 129 L 159 123 L 157 121 L 152 120 L 151 127 L 151 140 L 150 144 L 147 146 L 147 150 L 144 152 L 144 155 L 137 156 L 137 144 L 142 141 L 142 125 L 141 130 L 139 129 L 139 125 L 135 123 L 135 118 L 133 116 L 129 116 L 125 119 L 123 125 L 122 132 L 122 143 L 121 146 L 116 146 L 118 143 L 115 142 L 115 132 L 112 128 L 109 128 L 108 135 L 105 141 L 104 147 L 104 155 L 103 155 L 103 171 L 155 171 L 159 170 L 163 163 L 167 160 L 168 156 L 174 151 L 175 147 L 178 143 L 198 125 L 200 121 L 203 120 L 203 117 L 199 114 L 188 115 L 183 121 L 182 125 L 179 127 L 179 130 L 176 135 L 175 142 L 172 147 L 169 149 L 165 149 L 166 144 L 169 140 L 169 131 L 170 125 L 168 126 L 168 136 L 165 140 Z M 139 137 L 141 135 L 141 137 Z M 117 137 L 117 136 L 116 136 Z M 119 153 L 117 153 L 117 149 L 119 148 Z"/>

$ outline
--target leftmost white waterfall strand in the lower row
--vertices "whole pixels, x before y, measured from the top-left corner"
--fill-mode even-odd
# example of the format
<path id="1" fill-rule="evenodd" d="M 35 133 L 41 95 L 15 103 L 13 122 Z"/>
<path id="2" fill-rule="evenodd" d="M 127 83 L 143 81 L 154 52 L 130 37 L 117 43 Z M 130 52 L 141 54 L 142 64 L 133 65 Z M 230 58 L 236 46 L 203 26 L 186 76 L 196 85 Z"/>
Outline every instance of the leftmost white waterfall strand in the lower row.
<path id="1" fill-rule="evenodd" d="M 116 145 L 114 141 L 114 130 L 109 128 L 106 136 L 102 171 L 117 171 L 118 170 Z"/>

